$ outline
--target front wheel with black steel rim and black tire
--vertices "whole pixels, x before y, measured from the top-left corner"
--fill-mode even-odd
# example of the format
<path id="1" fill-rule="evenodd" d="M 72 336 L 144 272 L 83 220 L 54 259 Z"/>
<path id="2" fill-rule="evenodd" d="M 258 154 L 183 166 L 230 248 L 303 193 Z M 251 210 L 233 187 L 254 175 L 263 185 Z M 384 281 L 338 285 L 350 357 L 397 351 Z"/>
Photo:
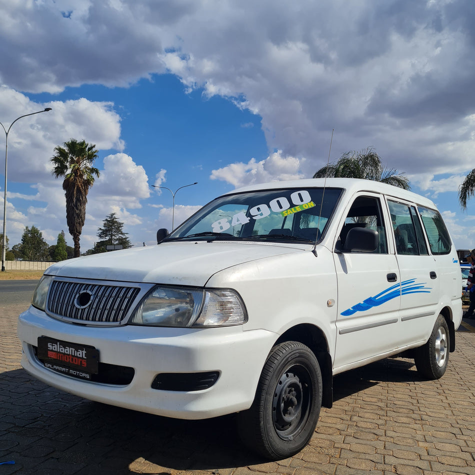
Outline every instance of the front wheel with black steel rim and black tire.
<path id="1" fill-rule="evenodd" d="M 243 443 L 265 458 L 299 452 L 312 436 L 321 407 L 321 372 L 313 352 L 297 341 L 274 346 L 252 406 L 237 414 Z"/>

